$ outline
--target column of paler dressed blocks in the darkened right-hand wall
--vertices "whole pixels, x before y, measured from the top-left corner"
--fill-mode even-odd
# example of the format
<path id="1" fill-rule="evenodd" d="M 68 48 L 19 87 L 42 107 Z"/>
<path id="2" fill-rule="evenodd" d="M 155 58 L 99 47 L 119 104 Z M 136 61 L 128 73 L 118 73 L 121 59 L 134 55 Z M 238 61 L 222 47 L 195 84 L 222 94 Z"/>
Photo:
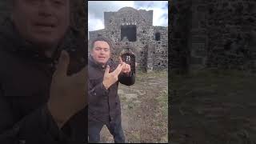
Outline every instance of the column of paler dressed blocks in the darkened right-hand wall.
<path id="1" fill-rule="evenodd" d="M 190 23 L 190 69 L 206 65 L 208 46 L 207 34 L 207 1 L 194 1 L 191 3 Z"/>

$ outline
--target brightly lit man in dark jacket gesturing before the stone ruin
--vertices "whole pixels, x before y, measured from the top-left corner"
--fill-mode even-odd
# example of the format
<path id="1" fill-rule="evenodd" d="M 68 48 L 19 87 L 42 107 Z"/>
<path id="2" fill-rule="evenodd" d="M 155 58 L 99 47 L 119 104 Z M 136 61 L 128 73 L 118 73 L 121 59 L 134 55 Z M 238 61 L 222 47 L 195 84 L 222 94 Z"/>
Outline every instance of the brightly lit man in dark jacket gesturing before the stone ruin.
<path id="1" fill-rule="evenodd" d="M 122 130 L 121 106 L 118 97 L 118 82 L 130 86 L 135 75 L 130 65 L 119 59 L 115 64 L 110 59 L 110 42 L 106 38 L 96 38 L 90 48 L 88 65 L 89 106 L 88 136 L 89 142 L 100 142 L 100 131 L 106 125 L 114 136 L 114 142 L 125 142 Z"/>

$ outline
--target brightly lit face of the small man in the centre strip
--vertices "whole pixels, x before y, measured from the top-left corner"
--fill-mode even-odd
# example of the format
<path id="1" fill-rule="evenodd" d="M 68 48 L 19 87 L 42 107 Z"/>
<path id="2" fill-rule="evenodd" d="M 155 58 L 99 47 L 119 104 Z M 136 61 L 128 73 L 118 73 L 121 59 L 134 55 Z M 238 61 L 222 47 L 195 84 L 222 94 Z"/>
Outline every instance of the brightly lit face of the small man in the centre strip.
<path id="1" fill-rule="evenodd" d="M 110 59 L 110 45 L 104 41 L 94 42 L 94 48 L 91 50 L 91 55 L 95 62 L 105 65 Z"/>

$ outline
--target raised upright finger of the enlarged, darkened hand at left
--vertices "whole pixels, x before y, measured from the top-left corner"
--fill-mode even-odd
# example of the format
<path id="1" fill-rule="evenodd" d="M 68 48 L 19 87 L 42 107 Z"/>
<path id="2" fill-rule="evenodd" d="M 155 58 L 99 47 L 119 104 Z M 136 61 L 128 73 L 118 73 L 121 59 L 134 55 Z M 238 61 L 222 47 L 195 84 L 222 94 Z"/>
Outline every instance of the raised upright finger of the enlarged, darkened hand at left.
<path id="1" fill-rule="evenodd" d="M 70 56 L 66 50 L 62 50 L 60 57 L 58 58 L 58 65 L 56 66 L 55 73 L 66 75 L 70 64 Z"/>

